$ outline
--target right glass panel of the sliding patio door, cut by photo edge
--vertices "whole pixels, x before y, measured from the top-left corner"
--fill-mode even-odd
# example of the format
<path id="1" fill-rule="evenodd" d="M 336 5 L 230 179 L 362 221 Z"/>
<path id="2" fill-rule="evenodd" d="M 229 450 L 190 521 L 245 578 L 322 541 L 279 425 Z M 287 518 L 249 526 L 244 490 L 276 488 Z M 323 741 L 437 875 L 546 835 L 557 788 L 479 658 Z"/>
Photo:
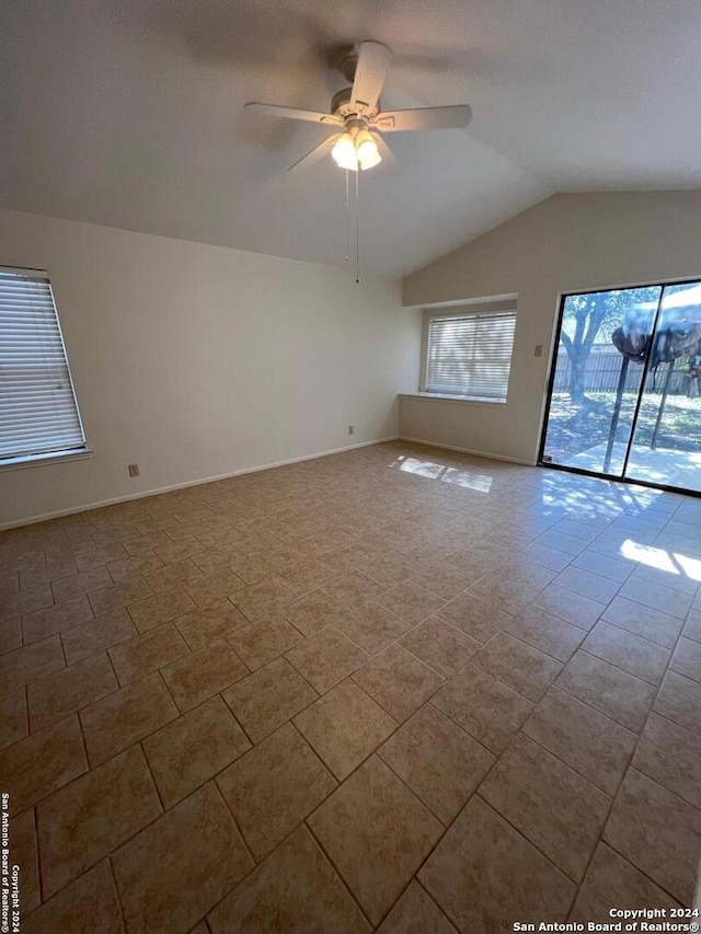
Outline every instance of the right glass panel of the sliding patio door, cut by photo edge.
<path id="1" fill-rule="evenodd" d="M 701 492 L 701 282 L 665 286 L 625 478 Z"/>

